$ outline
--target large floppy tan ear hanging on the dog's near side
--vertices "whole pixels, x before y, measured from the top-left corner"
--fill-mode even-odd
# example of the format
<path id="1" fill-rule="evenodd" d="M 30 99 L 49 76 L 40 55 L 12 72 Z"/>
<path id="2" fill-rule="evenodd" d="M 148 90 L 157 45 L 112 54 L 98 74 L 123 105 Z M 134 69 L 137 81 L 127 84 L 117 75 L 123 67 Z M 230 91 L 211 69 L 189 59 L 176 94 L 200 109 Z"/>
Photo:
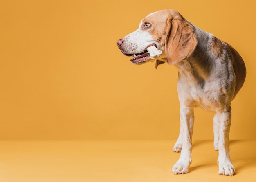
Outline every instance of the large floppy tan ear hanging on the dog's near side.
<path id="1" fill-rule="evenodd" d="M 195 50 L 198 40 L 195 27 L 183 17 L 167 20 L 169 33 L 165 42 L 165 55 L 172 65 L 188 58 Z"/>

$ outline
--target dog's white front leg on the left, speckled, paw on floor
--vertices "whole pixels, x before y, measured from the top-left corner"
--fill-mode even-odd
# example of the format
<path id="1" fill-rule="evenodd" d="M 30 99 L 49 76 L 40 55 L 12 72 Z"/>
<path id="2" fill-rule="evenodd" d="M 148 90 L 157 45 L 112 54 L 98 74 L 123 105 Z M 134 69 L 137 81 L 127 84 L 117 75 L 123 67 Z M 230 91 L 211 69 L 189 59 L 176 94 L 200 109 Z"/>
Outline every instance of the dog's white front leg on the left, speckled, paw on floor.
<path id="1" fill-rule="evenodd" d="M 180 130 L 182 132 L 182 149 L 180 158 L 174 164 L 172 172 L 174 174 L 184 174 L 189 172 L 192 151 L 192 133 L 194 124 L 194 110 L 192 107 L 182 106 L 180 108 Z"/>

